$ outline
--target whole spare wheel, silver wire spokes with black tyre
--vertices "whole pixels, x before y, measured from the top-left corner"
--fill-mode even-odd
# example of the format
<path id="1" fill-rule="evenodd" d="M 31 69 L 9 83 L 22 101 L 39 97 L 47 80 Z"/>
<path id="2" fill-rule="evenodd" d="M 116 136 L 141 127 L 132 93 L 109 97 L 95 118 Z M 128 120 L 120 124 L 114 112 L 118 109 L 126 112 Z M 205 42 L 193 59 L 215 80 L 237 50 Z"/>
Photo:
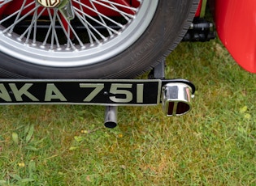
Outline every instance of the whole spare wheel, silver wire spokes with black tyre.
<path id="1" fill-rule="evenodd" d="M 0 75 L 135 77 L 175 48 L 197 1 L 0 0 Z"/>

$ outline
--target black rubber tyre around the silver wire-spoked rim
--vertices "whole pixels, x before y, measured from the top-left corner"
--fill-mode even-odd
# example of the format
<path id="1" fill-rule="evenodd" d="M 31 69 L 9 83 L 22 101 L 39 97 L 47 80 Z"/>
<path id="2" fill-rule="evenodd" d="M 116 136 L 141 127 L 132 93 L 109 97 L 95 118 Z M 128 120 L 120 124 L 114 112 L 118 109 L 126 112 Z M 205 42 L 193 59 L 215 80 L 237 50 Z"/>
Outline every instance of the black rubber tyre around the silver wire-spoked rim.
<path id="1" fill-rule="evenodd" d="M 151 1 L 151 0 L 145 0 Z M 154 0 L 152 0 L 154 1 Z M 0 53 L 1 78 L 134 78 L 163 60 L 184 36 L 198 0 L 158 0 L 145 32 L 114 57 L 85 66 L 41 66 Z M 2 41 L 0 40 L 0 45 Z"/>

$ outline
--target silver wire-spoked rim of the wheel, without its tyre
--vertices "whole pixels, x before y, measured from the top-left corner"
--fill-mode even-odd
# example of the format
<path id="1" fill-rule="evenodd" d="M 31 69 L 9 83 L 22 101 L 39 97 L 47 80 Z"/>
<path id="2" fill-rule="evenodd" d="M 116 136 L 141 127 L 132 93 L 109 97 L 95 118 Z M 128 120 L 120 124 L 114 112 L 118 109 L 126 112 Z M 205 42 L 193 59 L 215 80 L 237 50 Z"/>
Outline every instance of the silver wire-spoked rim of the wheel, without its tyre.
<path id="1" fill-rule="evenodd" d="M 0 6 L 7 10 L 19 1 L 2 1 Z M 58 7 L 21 2 L 0 21 L 2 51 L 59 67 L 97 63 L 127 49 L 145 31 L 158 5 L 158 0 L 134 1 L 134 6 L 124 1 L 72 0 L 75 18 L 69 20 Z M 141 27 L 142 22 L 147 23 Z"/>

